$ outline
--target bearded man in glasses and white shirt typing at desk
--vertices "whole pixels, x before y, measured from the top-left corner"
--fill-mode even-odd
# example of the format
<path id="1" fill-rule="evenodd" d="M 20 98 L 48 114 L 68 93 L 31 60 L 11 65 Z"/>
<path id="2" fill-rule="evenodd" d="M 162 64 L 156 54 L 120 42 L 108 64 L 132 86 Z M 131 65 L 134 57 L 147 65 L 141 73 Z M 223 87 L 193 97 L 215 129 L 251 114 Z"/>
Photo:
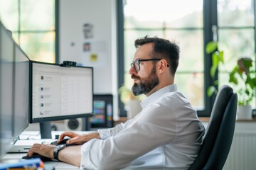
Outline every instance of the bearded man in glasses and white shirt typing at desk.
<path id="1" fill-rule="evenodd" d="M 161 38 L 135 41 L 131 64 L 134 95 L 147 96 L 143 110 L 126 123 L 89 135 L 64 132 L 71 137 L 58 152 L 60 161 L 85 169 L 188 169 L 201 147 L 205 129 L 196 110 L 174 84 L 179 47 Z M 52 145 L 35 144 L 28 152 L 53 158 Z M 56 153 L 55 153 L 56 157 Z"/>

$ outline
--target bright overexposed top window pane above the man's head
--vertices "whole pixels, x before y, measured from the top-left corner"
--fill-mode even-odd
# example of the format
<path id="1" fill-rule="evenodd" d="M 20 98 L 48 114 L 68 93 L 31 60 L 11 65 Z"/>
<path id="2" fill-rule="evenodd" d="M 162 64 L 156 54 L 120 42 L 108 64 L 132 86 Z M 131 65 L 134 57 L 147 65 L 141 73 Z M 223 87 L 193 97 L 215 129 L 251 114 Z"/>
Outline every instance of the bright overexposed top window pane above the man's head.
<path id="1" fill-rule="evenodd" d="M 146 7 L 145 7 L 146 4 Z M 127 0 L 125 28 L 202 27 L 203 0 Z"/>

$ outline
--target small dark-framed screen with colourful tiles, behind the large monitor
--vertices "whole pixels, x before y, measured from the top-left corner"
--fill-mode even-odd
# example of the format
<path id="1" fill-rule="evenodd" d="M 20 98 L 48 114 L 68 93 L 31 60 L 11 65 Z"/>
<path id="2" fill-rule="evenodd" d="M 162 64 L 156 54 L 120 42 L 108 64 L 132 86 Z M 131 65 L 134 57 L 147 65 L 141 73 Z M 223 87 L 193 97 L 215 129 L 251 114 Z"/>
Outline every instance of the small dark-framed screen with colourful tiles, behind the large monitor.
<path id="1" fill-rule="evenodd" d="M 90 118 L 91 128 L 113 127 L 113 95 L 95 94 L 93 96 L 93 113 Z"/>

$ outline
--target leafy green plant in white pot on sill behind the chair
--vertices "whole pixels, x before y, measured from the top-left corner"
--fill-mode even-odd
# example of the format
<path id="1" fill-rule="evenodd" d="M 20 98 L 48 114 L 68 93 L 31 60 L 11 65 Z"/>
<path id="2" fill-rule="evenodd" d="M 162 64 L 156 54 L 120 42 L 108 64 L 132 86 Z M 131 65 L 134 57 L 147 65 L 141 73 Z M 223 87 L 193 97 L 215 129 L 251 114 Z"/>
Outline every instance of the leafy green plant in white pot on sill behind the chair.
<path id="1" fill-rule="evenodd" d="M 248 57 L 240 58 L 229 74 L 229 82 L 238 93 L 238 119 L 252 118 L 250 103 L 256 91 L 255 67 L 252 62 Z"/>

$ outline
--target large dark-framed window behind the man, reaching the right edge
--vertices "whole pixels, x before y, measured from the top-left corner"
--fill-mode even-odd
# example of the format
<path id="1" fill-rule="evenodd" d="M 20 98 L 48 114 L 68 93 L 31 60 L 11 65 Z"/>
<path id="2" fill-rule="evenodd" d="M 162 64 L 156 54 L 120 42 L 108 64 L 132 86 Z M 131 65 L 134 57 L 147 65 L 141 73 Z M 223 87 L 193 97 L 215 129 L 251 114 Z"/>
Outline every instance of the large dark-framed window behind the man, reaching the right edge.
<path id="1" fill-rule="evenodd" d="M 117 5 L 121 16 L 119 56 L 124 56 L 119 59 L 119 86 L 132 87 L 128 72 L 136 50 L 134 40 L 145 35 L 175 40 L 181 47 L 175 83 L 199 116 L 210 115 L 215 98 L 206 95 L 207 87 L 215 81 L 210 77 L 211 57 L 205 51 L 207 42 L 213 41 L 213 26 L 220 44 L 228 47 L 223 50 L 233 52 L 225 57 L 228 70 L 240 55 L 255 53 L 254 0 L 126 0 Z M 228 84 L 224 68 L 219 68 L 218 77 L 219 86 Z M 124 114 L 121 108 L 120 115 Z"/>

